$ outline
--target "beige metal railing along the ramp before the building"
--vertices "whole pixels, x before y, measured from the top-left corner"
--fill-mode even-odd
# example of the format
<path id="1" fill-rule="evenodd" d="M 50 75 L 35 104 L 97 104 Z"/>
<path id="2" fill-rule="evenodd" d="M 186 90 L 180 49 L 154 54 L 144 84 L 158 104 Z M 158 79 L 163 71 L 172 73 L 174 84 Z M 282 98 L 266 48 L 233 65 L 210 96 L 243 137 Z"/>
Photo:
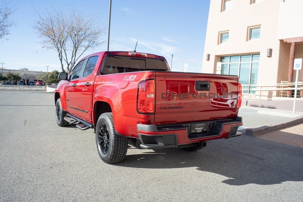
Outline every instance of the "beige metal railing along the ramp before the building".
<path id="1" fill-rule="evenodd" d="M 292 98 L 287 98 L 287 91 L 291 90 Z M 297 98 L 300 98 L 303 82 L 298 82 Z M 251 100 L 290 100 L 295 96 L 295 82 L 281 81 L 277 84 L 251 84 L 242 85 L 242 98 Z"/>

